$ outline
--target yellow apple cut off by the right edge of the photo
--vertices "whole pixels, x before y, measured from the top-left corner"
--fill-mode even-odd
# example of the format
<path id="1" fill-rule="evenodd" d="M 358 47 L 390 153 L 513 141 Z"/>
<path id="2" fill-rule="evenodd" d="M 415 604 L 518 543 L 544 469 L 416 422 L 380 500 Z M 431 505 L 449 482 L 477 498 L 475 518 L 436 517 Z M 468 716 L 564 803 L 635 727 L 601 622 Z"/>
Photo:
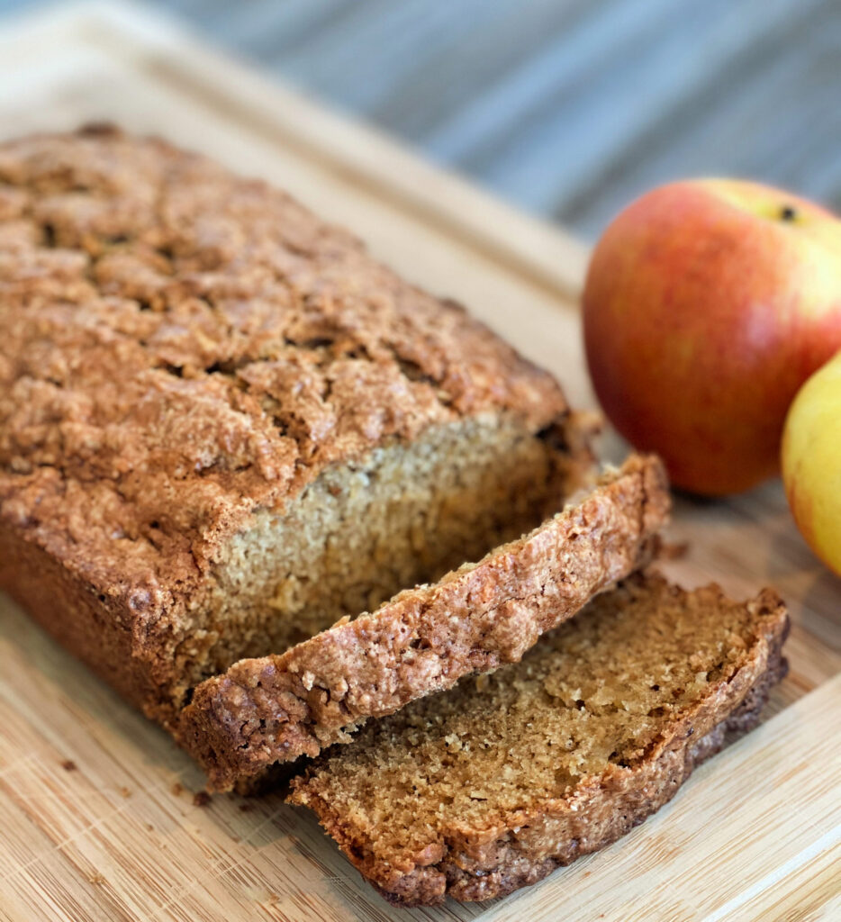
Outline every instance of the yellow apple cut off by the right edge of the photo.
<path id="1" fill-rule="evenodd" d="M 800 388 L 788 410 L 781 455 L 800 534 L 841 575 L 841 356 Z"/>

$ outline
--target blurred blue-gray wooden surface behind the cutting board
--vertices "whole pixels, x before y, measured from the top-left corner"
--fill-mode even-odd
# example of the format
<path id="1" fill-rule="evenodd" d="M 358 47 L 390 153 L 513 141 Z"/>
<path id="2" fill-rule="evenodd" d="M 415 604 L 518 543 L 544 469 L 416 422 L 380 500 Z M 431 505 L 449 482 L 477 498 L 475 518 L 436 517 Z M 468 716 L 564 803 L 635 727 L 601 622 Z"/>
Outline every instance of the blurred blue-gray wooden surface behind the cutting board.
<path id="1" fill-rule="evenodd" d="M 841 0 L 154 5 L 586 237 L 693 174 L 841 210 Z"/>

